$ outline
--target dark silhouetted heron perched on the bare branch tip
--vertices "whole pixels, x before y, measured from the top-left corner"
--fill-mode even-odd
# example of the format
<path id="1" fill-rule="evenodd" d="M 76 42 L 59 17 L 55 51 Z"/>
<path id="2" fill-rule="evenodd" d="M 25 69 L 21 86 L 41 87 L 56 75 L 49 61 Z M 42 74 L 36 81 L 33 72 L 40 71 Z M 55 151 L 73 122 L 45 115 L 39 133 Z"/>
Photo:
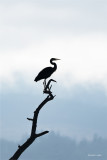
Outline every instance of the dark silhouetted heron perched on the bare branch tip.
<path id="1" fill-rule="evenodd" d="M 43 84 L 44 84 L 44 86 L 46 86 L 46 79 L 49 78 L 56 71 L 56 69 L 57 69 L 56 63 L 53 62 L 53 61 L 56 61 L 56 60 L 60 60 L 60 59 L 58 59 L 58 58 L 51 58 L 50 59 L 50 63 L 52 65 L 54 65 L 54 66 L 53 67 L 46 67 L 43 70 L 41 70 L 39 72 L 39 74 L 37 75 L 37 77 L 34 79 L 34 81 L 37 82 L 37 81 L 40 81 L 40 80 L 44 79 Z"/>

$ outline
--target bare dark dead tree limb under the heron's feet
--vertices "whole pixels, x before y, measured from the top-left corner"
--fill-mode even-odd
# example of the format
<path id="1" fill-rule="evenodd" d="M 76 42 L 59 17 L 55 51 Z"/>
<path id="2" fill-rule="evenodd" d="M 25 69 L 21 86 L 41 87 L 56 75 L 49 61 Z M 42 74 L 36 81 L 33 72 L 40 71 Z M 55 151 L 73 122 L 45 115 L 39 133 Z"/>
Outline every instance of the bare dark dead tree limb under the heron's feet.
<path id="1" fill-rule="evenodd" d="M 31 135 L 30 137 L 26 140 L 26 142 L 22 145 L 18 145 L 17 151 L 14 153 L 14 155 L 9 159 L 9 160 L 17 160 L 21 154 L 35 141 L 36 138 L 43 136 L 47 134 L 49 131 L 44 131 L 41 133 L 36 133 L 37 129 L 37 119 L 38 119 L 38 114 L 39 111 L 42 109 L 42 107 L 49 101 L 53 100 L 55 96 L 53 96 L 51 92 L 51 86 L 50 83 L 51 81 L 56 82 L 53 79 L 50 79 L 47 83 L 47 85 L 44 88 L 43 93 L 48 94 L 48 96 L 45 98 L 45 100 L 37 107 L 37 109 L 34 111 L 33 119 L 32 118 L 27 118 L 29 121 L 32 121 L 32 129 L 31 129 Z"/>

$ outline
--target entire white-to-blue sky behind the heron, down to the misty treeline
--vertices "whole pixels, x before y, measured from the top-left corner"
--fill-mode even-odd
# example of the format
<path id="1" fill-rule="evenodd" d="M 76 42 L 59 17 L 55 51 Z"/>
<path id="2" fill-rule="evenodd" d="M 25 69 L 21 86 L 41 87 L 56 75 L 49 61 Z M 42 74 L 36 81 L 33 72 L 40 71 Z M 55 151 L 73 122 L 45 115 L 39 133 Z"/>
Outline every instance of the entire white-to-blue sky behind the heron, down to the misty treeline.
<path id="1" fill-rule="evenodd" d="M 107 1 L 0 1 L 0 138 L 30 133 L 26 120 L 45 98 L 34 78 L 60 58 L 52 78 L 55 99 L 38 130 L 107 138 Z"/>

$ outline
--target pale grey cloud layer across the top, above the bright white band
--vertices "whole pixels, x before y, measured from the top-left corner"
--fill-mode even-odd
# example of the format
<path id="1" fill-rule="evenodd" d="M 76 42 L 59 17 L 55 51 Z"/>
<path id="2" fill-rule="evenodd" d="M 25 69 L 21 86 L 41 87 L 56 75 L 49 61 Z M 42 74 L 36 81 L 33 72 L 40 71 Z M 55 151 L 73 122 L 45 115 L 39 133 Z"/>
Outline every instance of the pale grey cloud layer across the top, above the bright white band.
<path id="1" fill-rule="evenodd" d="M 106 32 L 106 1 L 19 1 L 1 4 L 3 48 L 25 47 L 50 35 Z"/>

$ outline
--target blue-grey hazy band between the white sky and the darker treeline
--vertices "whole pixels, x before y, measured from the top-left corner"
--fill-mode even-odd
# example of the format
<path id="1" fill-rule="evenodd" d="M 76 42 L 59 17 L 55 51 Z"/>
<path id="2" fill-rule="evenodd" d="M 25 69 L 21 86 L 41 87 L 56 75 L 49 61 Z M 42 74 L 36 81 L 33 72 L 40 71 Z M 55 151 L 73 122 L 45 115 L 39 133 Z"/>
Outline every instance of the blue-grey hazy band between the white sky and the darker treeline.
<path id="1" fill-rule="evenodd" d="M 36 85 L 28 88 L 21 84 L 19 88 L 18 92 L 2 91 L 0 106 L 1 136 L 15 141 L 30 133 L 31 124 L 26 118 L 32 118 L 34 110 L 45 98 L 41 95 L 42 88 Z M 107 137 L 107 98 L 99 84 L 76 86 L 69 91 L 54 85 L 52 91 L 57 96 L 41 110 L 38 130 L 54 130 L 77 140 L 92 139 L 95 133 Z"/>

